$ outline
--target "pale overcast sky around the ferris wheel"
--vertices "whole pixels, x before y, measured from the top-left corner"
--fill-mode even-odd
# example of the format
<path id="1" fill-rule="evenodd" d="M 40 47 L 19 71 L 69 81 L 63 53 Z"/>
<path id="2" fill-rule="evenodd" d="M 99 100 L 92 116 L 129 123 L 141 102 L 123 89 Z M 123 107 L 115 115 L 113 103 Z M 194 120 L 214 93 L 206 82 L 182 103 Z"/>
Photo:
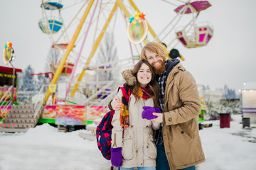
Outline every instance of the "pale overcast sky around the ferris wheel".
<path id="1" fill-rule="evenodd" d="M 141 11 L 146 13 L 146 19 L 156 34 L 176 15 L 173 12 L 175 7 L 164 1 L 135 0 L 134 2 Z M 178 4 L 177 1 L 172 2 Z M 227 84 L 230 88 L 238 90 L 242 88 L 244 81 L 256 80 L 254 10 L 256 1 L 214 0 L 209 2 L 212 6 L 200 13 L 198 22 L 209 21 L 213 25 L 212 40 L 206 47 L 186 49 L 178 45 L 177 49 L 186 58 L 182 62 L 183 66 L 193 74 L 198 84 L 209 85 L 212 90 L 223 88 Z M 35 72 L 44 72 L 51 42 L 48 36 L 38 28 L 38 20 L 42 17 L 40 5 L 39 0 L 0 1 L 0 49 L 4 50 L 7 40 L 13 42 L 16 55 L 13 64 L 16 68 L 25 69 L 28 64 L 31 64 Z M 68 15 L 73 16 L 76 11 L 77 9 L 74 8 Z M 116 24 L 114 29 L 123 29 L 125 35 L 125 26 L 121 26 L 122 22 Z M 182 25 L 186 23 L 181 22 Z M 117 31 L 116 44 L 122 41 L 120 36 Z M 129 53 L 128 45 L 117 47 L 119 55 L 127 54 L 124 48 L 128 49 Z M 6 66 L 2 59 L 0 65 Z"/>

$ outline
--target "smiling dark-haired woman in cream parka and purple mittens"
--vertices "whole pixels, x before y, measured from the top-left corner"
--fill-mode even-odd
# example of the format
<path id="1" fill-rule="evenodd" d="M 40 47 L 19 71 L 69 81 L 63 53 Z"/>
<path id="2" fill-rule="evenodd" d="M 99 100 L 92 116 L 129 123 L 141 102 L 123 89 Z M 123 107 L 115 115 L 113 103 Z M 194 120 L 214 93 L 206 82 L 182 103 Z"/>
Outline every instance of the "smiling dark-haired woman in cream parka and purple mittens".
<path id="1" fill-rule="evenodd" d="M 120 166 L 121 170 L 134 167 L 154 170 L 156 145 L 153 129 L 158 129 L 160 124 L 153 122 L 154 115 L 145 112 L 146 109 L 160 111 L 156 108 L 159 91 L 153 68 L 146 60 L 140 60 L 134 69 L 124 71 L 122 76 L 127 82 L 123 86 L 129 101 L 124 100 L 126 94 L 122 91 L 114 99 L 122 101 L 122 109 L 115 111 L 112 119 L 112 165 Z"/>

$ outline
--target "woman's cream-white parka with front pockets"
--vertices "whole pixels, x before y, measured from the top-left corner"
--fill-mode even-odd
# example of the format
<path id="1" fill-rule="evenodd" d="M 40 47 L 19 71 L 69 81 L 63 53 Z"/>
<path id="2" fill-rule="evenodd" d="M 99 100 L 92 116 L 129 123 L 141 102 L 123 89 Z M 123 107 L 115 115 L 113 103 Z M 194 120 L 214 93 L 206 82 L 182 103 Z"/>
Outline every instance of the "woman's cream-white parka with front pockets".
<path id="1" fill-rule="evenodd" d="M 117 96 L 121 100 L 122 90 Z M 154 106 L 153 98 L 139 98 L 135 103 L 133 94 L 129 97 L 129 128 L 120 125 L 120 111 L 115 111 L 112 119 L 112 147 L 122 147 L 122 167 L 156 166 L 156 145 L 153 129 L 159 128 L 159 123 L 142 119 L 143 106 Z"/>

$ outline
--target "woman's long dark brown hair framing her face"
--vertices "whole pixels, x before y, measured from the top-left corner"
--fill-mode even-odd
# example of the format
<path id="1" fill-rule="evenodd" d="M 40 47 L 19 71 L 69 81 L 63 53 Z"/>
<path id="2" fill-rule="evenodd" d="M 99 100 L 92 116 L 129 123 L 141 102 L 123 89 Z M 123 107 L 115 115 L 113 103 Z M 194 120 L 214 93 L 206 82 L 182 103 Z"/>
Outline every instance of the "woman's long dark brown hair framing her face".
<path id="1" fill-rule="evenodd" d="M 137 83 L 134 86 L 134 91 L 135 93 L 138 92 L 139 87 L 142 87 L 142 84 L 139 83 L 138 79 L 137 79 L 137 74 L 139 72 L 139 69 L 142 67 L 142 64 L 146 64 L 150 71 L 151 71 L 151 81 L 149 82 L 149 84 L 146 85 L 146 88 L 151 89 L 151 91 L 154 92 L 154 106 L 155 107 L 159 107 L 158 101 L 159 101 L 159 84 L 156 82 L 155 80 L 155 76 L 156 74 L 154 73 L 154 69 L 153 67 L 151 67 L 151 65 L 149 64 L 149 62 L 147 62 L 146 60 L 140 60 L 139 62 L 137 62 L 137 64 L 134 65 L 134 68 L 132 69 L 132 74 L 134 75 L 134 77 L 136 77 Z M 139 96 L 135 95 L 135 103 L 138 101 Z"/>

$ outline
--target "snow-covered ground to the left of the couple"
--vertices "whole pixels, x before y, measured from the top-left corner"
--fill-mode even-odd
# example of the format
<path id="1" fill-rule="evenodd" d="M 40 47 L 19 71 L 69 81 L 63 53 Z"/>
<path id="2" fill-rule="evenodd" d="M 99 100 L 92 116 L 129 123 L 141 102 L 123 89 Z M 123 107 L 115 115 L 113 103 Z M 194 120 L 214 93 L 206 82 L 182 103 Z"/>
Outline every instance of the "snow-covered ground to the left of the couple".
<path id="1" fill-rule="evenodd" d="M 48 124 L 26 134 L 0 134 L 0 169 L 107 170 L 96 142 L 84 140 L 78 132 L 58 132 Z"/>

